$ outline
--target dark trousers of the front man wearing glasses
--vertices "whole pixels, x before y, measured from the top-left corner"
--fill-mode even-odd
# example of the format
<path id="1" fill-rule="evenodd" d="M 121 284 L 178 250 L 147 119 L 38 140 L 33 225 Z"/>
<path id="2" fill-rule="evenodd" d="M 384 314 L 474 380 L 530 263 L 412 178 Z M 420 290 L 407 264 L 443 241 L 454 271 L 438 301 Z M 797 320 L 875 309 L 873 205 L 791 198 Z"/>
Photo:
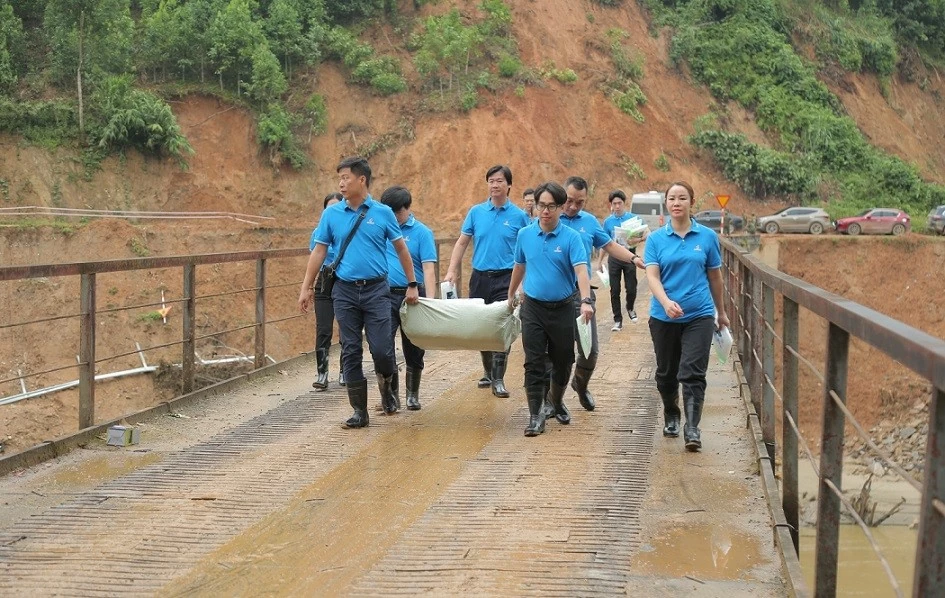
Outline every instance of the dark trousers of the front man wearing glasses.
<path id="1" fill-rule="evenodd" d="M 567 386 L 574 364 L 574 307 L 570 298 L 548 303 L 525 297 L 522 318 L 522 349 L 525 352 L 525 388 L 543 392 L 548 380 Z"/>

